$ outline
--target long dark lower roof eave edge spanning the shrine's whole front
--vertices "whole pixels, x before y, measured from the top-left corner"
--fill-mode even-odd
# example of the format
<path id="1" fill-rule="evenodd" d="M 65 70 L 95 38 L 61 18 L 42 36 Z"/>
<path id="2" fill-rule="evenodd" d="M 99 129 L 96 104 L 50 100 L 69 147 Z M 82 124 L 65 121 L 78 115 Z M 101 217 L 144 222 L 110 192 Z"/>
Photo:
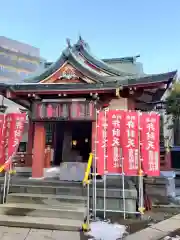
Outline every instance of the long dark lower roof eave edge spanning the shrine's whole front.
<path id="1" fill-rule="evenodd" d="M 177 71 L 164 73 L 164 74 L 156 74 L 156 75 L 148 75 L 141 78 L 136 79 L 124 79 L 118 81 L 117 77 L 104 77 L 103 83 L 79 83 L 79 84 L 39 84 L 39 83 L 19 83 L 19 84 L 0 84 L 0 90 L 2 89 L 10 89 L 15 92 L 24 91 L 45 91 L 48 92 L 50 90 L 56 91 L 91 91 L 91 90 L 111 90 L 119 87 L 129 88 L 129 87 L 143 87 L 143 88 L 153 88 L 157 87 L 160 84 L 170 84 L 174 77 L 176 76 Z"/>

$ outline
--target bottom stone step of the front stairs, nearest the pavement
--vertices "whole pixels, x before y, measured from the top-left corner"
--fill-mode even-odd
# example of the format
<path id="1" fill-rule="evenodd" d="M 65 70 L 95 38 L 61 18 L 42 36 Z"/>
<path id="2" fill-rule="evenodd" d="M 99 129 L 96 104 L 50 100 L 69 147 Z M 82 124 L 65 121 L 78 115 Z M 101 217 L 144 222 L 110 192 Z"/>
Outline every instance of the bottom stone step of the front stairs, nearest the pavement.
<path id="1" fill-rule="evenodd" d="M 0 226 L 60 231 L 79 231 L 82 221 L 59 218 L 0 215 Z"/>

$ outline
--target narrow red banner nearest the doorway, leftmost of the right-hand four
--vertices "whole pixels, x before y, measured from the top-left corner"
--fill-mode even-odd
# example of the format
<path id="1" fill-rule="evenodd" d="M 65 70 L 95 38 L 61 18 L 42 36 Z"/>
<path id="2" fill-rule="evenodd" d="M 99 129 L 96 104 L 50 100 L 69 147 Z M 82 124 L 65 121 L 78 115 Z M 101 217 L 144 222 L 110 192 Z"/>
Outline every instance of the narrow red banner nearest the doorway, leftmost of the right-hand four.
<path id="1" fill-rule="evenodd" d="M 106 155 L 107 155 L 107 121 L 104 111 L 98 114 L 98 128 L 97 128 L 97 149 L 96 149 L 96 163 L 97 173 L 104 175 Z"/>

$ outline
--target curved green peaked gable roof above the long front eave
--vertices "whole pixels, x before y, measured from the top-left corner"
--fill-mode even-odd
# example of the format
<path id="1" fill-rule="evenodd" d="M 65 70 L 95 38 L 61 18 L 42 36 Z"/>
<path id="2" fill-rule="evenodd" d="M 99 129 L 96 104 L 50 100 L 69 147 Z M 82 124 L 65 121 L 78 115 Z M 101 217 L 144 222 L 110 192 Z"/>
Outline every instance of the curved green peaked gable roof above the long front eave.
<path id="1" fill-rule="evenodd" d="M 80 58 L 80 55 L 83 58 Z M 91 68 L 88 64 L 85 63 L 85 60 L 93 64 L 97 69 L 102 71 L 104 74 L 100 73 L 99 71 L 96 71 L 94 68 Z M 69 45 L 62 52 L 61 56 L 55 63 L 49 65 L 48 68 L 43 69 L 43 71 L 39 73 L 36 72 L 31 77 L 28 77 L 27 79 L 25 79 L 24 82 L 32 82 L 32 83 L 41 82 L 42 80 L 51 76 L 58 69 L 60 69 L 65 62 L 70 63 L 78 71 L 82 72 L 86 77 L 94 80 L 95 82 L 103 82 L 104 81 L 103 75 L 121 76 L 121 77 L 135 76 L 134 74 L 126 72 L 124 70 L 119 71 L 111 67 L 110 65 L 106 64 L 102 60 L 96 57 L 93 57 L 93 55 L 87 51 L 85 45 L 83 45 L 82 42 L 78 40 L 78 42 L 73 46 Z"/>

